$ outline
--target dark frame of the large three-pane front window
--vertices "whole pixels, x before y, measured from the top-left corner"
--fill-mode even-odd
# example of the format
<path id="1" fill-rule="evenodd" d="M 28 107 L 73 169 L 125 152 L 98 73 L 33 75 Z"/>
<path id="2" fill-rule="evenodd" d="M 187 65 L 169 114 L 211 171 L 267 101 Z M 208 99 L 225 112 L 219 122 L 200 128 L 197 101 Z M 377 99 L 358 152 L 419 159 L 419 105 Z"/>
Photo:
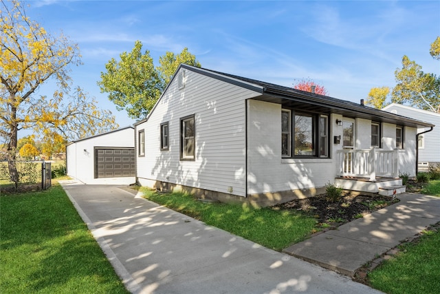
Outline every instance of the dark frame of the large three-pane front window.
<path id="1" fill-rule="evenodd" d="M 328 114 L 318 114 L 312 112 L 295 112 L 293 109 L 281 109 L 281 112 L 289 112 L 289 156 L 287 154 L 283 154 L 283 146 L 281 146 L 281 158 L 330 158 L 330 143 L 329 143 L 329 134 L 330 134 L 330 125 L 329 125 L 329 115 Z M 311 144 L 313 145 L 314 154 L 304 154 L 298 155 L 295 154 L 295 116 L 308 116 L 311 118 Z M 325 154 L 320 154 L 320 119 L 325 118 Z M 281 118 L 282 120 L 283 118 Z M 283 123 L 281 121 L 281 123 Z M 287 133 L 285 133 L 287 134 Z M 283 126 L 281 125 L 281 144 L 283 144 Z"/>

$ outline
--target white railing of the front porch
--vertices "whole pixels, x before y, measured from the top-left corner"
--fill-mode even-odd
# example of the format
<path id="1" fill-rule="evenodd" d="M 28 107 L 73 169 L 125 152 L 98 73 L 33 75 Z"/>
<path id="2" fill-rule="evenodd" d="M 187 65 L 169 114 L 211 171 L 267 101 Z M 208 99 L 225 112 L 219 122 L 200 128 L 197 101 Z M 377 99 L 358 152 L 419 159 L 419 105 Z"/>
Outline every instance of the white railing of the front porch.
<path id="1" fill-rule="evenodd" d="M 399 150 L 367 149 L 338 150 L 338 176 L 397 178 Z"/>

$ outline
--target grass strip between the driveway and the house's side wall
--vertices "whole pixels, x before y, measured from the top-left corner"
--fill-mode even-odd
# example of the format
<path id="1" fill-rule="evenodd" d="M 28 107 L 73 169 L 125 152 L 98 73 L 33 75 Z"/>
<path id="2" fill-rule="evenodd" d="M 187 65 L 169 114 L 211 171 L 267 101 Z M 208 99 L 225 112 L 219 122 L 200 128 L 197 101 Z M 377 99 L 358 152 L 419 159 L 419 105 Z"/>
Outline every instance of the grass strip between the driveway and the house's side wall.
<path id="1" fill-rule="evenodd" d="M 141 191 L 148 200 L 276 251 L 303 241 L 316 231 L 316 219 L 297 211 L 254 209 L 247 204 L 207 204 L 186 193 L 157 193 L 146 188 Z"/>

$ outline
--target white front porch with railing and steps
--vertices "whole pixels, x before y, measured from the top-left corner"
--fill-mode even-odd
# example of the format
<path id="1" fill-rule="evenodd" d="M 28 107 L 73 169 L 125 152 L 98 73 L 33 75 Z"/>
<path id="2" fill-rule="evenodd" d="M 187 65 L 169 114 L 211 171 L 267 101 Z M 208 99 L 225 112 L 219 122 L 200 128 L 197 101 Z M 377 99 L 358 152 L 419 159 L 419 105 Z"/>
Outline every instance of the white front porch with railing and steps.
<path id="1" fill-rule="evenodd" d="M 335 183 L 342 189 L 393 196 L 404 193 L 399 178 L 399 150 L 338 150 Z"/>

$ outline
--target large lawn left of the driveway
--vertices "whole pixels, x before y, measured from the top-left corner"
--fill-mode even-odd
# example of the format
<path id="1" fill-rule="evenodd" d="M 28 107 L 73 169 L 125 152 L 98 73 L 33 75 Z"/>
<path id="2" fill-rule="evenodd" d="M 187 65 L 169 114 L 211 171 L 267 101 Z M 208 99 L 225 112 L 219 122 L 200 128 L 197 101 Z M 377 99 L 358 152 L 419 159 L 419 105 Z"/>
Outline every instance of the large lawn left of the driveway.
<path id="1" fill-rule="evenodd" d="M 0 293 L 129 293 L 61 186 L 0 209 Z"/>

